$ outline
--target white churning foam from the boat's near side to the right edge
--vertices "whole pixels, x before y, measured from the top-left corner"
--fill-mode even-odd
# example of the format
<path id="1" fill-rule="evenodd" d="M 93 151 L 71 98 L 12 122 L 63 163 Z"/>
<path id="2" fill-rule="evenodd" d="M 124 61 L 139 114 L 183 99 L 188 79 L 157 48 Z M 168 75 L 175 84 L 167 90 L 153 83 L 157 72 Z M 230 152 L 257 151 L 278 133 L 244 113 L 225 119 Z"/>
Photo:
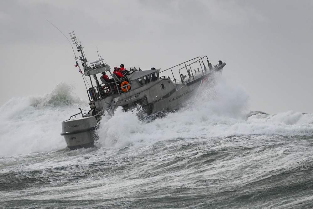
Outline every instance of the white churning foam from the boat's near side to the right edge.
<path id="1" fill-rule="evenodd" d="M 216 94 L 214 100 L 210 94 Z M 139 121 L 136 110 L 125 113 L 119 108 L 112 118 L 102 119 L 98 145 L 120 149 L 179 138 L 313 134 L 310 114 L 290 111 L 271 116 L 258 113 L 247 119 L 248 98 L 242 87 L 221 80 L 214 91 L 202 92 L 201 97 L 188 107 L 150 123 Z"/>

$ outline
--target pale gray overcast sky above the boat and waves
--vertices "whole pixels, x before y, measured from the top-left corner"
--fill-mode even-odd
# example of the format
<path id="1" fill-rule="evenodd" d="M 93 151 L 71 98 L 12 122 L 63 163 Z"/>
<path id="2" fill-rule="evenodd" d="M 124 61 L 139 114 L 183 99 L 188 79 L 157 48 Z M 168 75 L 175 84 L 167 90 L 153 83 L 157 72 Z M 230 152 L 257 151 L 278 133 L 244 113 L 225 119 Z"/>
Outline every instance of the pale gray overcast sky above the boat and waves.
<path id="1" fill-rule="evenodd" d="M 60 82 L 86 91 L 68 38 L 88 61 L 169 68 L 207 55 L 250 95 L 250 110 L 313 113 L 312 0 L 0 0 L 0 106 Z"/>

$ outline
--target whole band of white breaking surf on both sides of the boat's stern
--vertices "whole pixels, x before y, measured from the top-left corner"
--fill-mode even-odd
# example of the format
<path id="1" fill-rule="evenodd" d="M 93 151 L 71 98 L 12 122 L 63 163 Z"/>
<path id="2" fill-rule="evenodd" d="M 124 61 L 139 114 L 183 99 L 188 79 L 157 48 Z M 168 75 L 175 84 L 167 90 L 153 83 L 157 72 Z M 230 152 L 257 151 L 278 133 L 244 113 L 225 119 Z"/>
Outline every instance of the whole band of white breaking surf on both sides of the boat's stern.
<path id="1" fill-rule="evenodd" d="M 78 113 L 88 102 L 60 84 L 47 95 L 12 98 L 0 108 L 0 155 L 58 150 L 66 147 L 60 136 L 61 122 Z M 214 98 L 214 100 L 212 100 Z M 216 138 L 230 135 L 313 135 L 313 115 L 289 111 L 276 115 L 254 114 L 247 118 L 249 95 L 240 86 L 220 80 L 216 88 L 202 91 L 176 113 L 146 123 L 140 110 L 117 108 L 104 116 L 97 130 L 98 147 L 120 149 L 146 146 L 160 140 Z"/>

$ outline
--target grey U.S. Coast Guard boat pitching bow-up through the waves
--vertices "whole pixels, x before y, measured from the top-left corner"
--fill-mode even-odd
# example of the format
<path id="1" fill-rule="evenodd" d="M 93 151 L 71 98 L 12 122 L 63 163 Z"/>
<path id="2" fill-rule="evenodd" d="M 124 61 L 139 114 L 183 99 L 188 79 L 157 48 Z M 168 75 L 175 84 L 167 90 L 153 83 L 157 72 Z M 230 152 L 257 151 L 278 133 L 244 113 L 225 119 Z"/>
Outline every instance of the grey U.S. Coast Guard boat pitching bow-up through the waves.
<path id="1" fill-rule="evenodd" d="M 163 71 L 155 68 L 142 70 L 140 67 L 128 67 L 119 77 L 120 74 L 114 73 L 116 71 L 111 73 L 111 67 L 104 63 L 101 57 L 88 65 L 81 43 L 77 41 L 74 33 L 70 35 L 78 52 L 81 52 L 81 56 L 75 58 L 81 62 L 83 74 L 89 77 L 91 83 L 91 88 L 86 87 L 90 107 L 88 113 L 83 113 L 79 108 L 79 113 L 62 122 L 61 135 L 71 150 L 94 146 L 94 141 L 98 139 L 98 123 L 104 112 L 112 114 L 119 106 L 131 109 L 137 105 L 141 106 L 147 115 L 164 110 L 175 111 L 195 96 L 201 85 L 214 85 L 214 75 L 221 74 L 226 65 L 220 60 L 212 66 L 207 56 L 204 56 Z M 76 65 L 79 66 L 77 61 Z M 97 74 L 103 74 L 100 77 L 101 82 Z M 110 74 L 111 79 L 105 80 L 105 74 Z"/>

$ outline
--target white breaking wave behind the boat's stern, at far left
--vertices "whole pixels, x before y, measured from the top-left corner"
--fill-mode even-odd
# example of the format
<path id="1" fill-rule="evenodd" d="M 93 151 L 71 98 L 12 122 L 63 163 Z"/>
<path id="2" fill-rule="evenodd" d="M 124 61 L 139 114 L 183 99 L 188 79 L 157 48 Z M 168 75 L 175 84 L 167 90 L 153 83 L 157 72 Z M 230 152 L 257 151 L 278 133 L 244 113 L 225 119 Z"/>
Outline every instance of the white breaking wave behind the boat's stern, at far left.
<path id="1" fill-rule="evenodd" d="M 12 98 L 0 111 L 0 155 L 58 150 L 66 147 L 61 122 L 86 107 L 61 83 L 44 96 Z M 81 106 L 84 105 L 84 106 Z"/>

